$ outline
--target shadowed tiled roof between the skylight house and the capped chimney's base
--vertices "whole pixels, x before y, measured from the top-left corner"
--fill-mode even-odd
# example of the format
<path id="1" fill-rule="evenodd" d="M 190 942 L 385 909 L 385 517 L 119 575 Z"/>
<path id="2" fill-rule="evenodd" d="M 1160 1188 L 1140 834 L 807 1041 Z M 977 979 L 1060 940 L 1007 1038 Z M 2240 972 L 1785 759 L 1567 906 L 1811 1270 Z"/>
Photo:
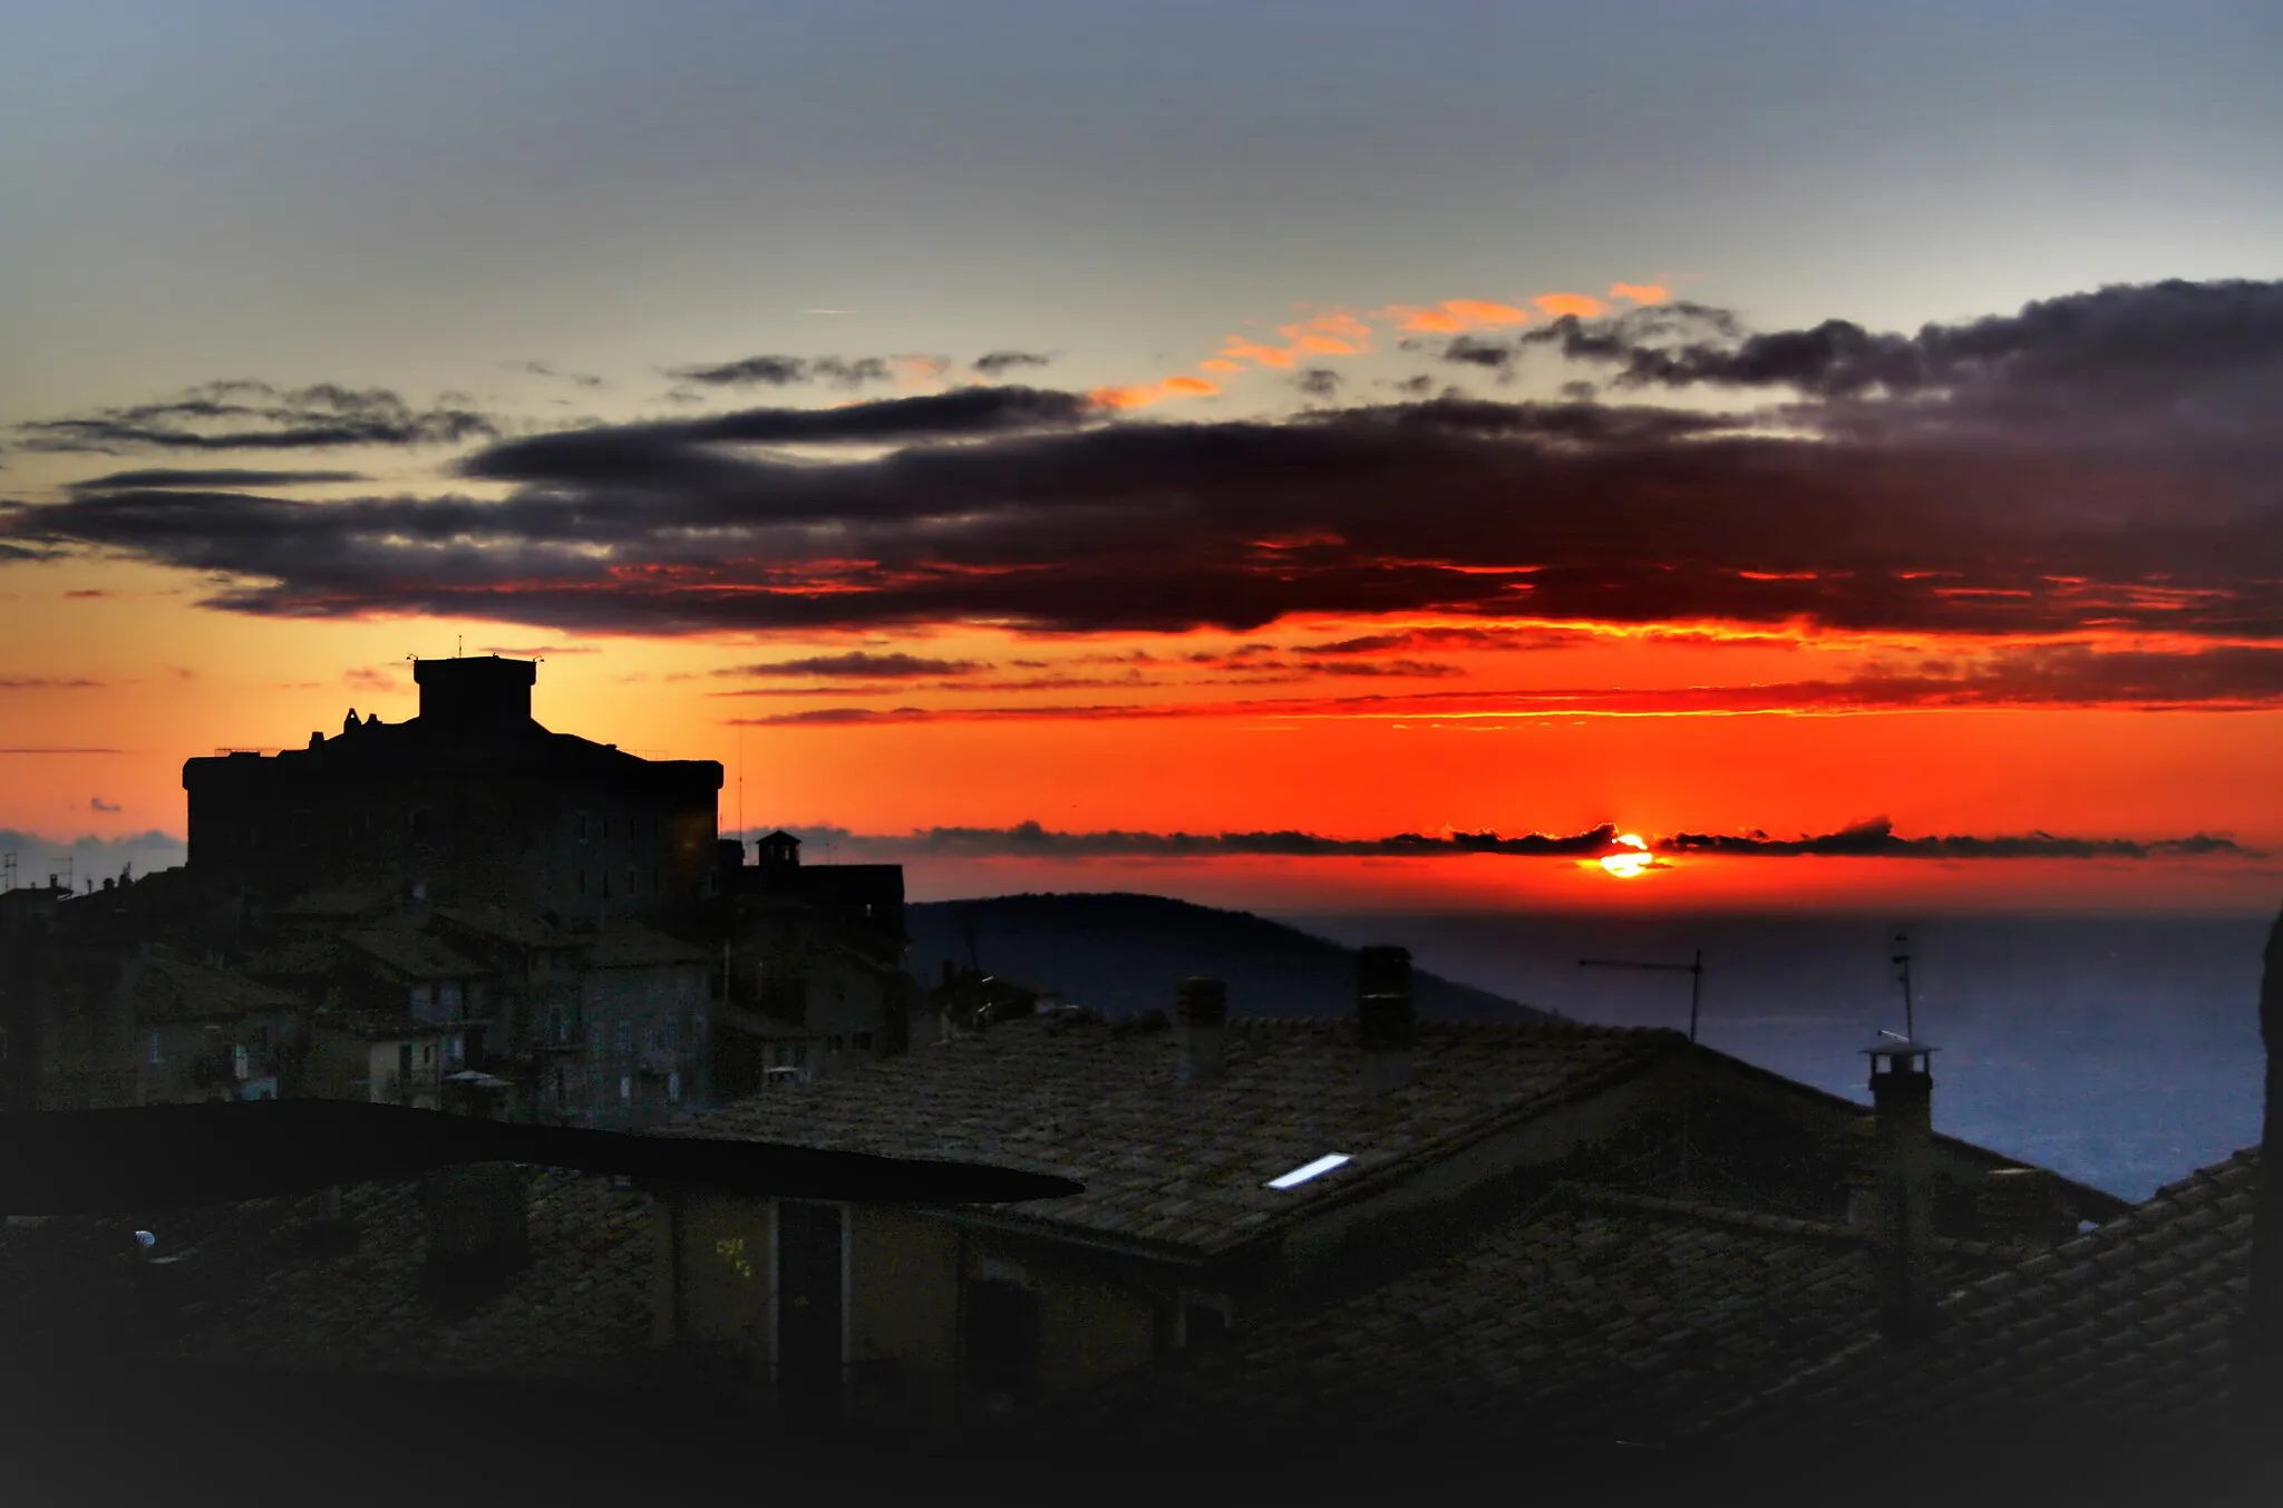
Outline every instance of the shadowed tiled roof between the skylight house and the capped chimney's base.
<path id="1" fill-rule="evenodd" d="M 2018 1257 L 1938 1243 L 1938 1278 Z M 1559 1184 L 1445 1262 L 1272 1316 L 1123 1378 L 1030 1430 L 1103 1449 L 1349 1449 L 1429 1440 L 1664 1440 L 1877 1323 L 1865 1232 Z"/>

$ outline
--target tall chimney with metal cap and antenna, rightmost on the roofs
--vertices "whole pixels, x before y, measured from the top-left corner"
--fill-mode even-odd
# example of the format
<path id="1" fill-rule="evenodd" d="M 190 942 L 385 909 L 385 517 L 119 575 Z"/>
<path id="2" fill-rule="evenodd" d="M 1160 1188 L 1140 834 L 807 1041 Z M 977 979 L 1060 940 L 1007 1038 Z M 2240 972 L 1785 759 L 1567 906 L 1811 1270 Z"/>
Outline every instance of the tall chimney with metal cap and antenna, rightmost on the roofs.
<path id="1" fill-rule="evenodd" d="M 1888 1036 L 1870 1059 L 1879 1328 L 1915 1341 L 1934 1328 L 1934 1047 Z"/>

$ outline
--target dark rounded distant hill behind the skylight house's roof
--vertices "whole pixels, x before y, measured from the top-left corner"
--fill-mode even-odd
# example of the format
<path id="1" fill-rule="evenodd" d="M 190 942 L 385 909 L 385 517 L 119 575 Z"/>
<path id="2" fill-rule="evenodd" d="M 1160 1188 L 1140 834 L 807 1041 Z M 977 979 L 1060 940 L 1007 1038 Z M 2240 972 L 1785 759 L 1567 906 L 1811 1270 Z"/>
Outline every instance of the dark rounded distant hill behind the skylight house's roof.
<path id="1" fill-rule="evenodd" d="M 950 958 L 1107 1015 L 1171 1013 L 1192 974 L 1228 981 L 1231 1015 L 1345 1018 L 1356 1008 L 1356 951 L 1247 910 L 1155 894 L 1009 894 L 904 908 L 909 967 L 934 983 Z M 1399 926 L 1386 942 L 1402 944 Z M 1413 974 L 1420 1020 L 1541 1022 L 1489 990 Z"/>

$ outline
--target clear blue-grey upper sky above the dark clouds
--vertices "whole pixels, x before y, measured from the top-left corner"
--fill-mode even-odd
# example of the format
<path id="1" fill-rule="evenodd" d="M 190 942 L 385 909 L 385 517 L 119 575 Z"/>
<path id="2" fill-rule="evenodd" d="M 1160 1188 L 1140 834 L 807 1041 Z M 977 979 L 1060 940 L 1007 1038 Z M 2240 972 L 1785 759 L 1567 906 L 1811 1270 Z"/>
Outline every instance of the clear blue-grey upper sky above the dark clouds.
<path id="1" fill-rule="evenodd" d="M 16 0 L 7 34 L 9 422 L 221 376 L 610 415 L 753 351 L 1146 381 L 1297 301 L 1662 281 L 1911 329 L 2283 271 L 2260 2 Z"/>

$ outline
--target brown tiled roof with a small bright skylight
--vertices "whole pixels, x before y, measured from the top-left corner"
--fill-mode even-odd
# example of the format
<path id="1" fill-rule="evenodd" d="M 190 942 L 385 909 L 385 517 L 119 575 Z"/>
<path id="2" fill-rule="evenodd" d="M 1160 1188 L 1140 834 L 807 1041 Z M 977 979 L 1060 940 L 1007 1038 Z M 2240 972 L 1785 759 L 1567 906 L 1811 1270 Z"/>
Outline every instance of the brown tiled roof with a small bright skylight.
<path id="1" fill-rule="evenodd" d="M 1365 1100 L 1363 1052 L 1345 1022 L 1231 1022 L 1226 1075 L 1183 1088 L 1167 1031 L 1023 1018 L 701 1111 L 664 1134 L 1075 1177 L 1080 1195 L 998 1214 L 1199 1257 L 1628 1079 L 1678 1045 L 1671 1031 L 1420 1024 L 1409 1084 Z M 1352 1161 L 1265 1189 L 1331 1152 Z"/>

